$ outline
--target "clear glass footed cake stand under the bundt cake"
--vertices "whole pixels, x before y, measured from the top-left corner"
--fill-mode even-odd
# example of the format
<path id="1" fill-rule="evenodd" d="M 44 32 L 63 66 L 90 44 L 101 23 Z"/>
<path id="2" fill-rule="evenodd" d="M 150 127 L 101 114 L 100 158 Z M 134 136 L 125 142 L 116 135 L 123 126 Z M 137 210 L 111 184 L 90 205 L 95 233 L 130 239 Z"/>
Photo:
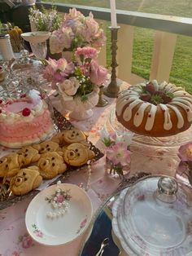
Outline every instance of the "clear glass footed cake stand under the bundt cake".
<path id="1" fill-rule="evenodd" d="M 133 134 L 116 119 L 116 108 L 111 109 L 107 120 L 107 130 L 113 130 L 117 135 L 133 135 L 130 150 L 133 152 L 131 160 L 131 174 L 138 171 L 152 174 L 167 174 L 175 176 L 179 157 L 178 148 L 192 140 L 192 127 L 177 135 L 168 137 L 150 137 Z"/>

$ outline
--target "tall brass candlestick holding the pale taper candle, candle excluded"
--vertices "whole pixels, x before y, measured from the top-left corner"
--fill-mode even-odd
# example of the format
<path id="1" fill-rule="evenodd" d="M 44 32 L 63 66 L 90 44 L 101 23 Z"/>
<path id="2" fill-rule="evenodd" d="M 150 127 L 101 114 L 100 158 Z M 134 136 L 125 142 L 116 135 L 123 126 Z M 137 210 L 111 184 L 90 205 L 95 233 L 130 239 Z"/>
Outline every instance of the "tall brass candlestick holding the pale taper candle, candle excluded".
<path id="1" fill-rule="evenodd" d="M 111 29 L 111 55 L 112 55 L 112 61 L 111 61 L 111 82 L 107 86 L 105 90 L 103 90 L 103 94 L 107 95 L 109 98 L 116 98 L 119 91 L 120 91 L 120 86 L 117 85 L 116 83 L 116 67 L 118 67 L 118 64 L 116 62 L 116 51 L 118 49 L 117 47 L 117 33 L 118 29 L 120 27 L 112 28 Z"/>

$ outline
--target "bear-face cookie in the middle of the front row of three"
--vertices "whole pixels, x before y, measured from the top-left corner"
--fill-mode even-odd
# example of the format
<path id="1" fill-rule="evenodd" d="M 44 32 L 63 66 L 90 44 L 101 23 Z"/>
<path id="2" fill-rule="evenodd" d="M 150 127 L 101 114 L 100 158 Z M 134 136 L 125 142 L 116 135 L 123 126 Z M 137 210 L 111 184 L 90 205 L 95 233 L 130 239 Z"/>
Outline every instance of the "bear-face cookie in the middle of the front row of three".
<path id="1" fill-rule="evenodd" d="M 67 169 L 63 157 L 58 152 L 47 152 L 41 155 L 37 166 L 43 179 L 53 179 Z"/>

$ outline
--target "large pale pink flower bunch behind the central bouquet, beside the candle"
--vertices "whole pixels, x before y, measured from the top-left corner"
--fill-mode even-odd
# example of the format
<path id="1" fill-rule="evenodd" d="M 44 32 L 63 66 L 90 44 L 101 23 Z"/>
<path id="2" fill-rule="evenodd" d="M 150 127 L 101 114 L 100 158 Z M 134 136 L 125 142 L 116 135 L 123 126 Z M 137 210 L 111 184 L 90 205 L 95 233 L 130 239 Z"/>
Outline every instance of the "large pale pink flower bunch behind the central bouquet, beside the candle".
<path id="1" fill-rule="evenodd" d="M 62 51 L 76 51 L 77 47 L 83 46 L 92 46 L 99 51 L 105 41 L 103 29 L 94 20 L 94 15 L 90 12 L 89 16 L 85 17 L 81 11 L 72 8 L 64 15 L 59 29 L 51 34 L 50 52 L 55 54 Z"/>

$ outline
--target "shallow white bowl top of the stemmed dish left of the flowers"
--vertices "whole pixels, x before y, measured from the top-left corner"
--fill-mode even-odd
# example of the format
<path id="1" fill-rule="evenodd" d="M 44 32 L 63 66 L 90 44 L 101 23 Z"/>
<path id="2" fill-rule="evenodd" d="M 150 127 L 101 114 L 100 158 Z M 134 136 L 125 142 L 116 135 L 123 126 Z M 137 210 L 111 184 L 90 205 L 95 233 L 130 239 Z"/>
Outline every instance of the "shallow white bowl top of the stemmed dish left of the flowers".
<path id="1" fill-rule="evenodd" d="M 24 38 L 25 41 L 31 43 L 39 43 L 45 42 L 50 38 L 50 32 L 47 31 L 33 31 L 27 33 L 21 33 L 21 37 Z"/>

